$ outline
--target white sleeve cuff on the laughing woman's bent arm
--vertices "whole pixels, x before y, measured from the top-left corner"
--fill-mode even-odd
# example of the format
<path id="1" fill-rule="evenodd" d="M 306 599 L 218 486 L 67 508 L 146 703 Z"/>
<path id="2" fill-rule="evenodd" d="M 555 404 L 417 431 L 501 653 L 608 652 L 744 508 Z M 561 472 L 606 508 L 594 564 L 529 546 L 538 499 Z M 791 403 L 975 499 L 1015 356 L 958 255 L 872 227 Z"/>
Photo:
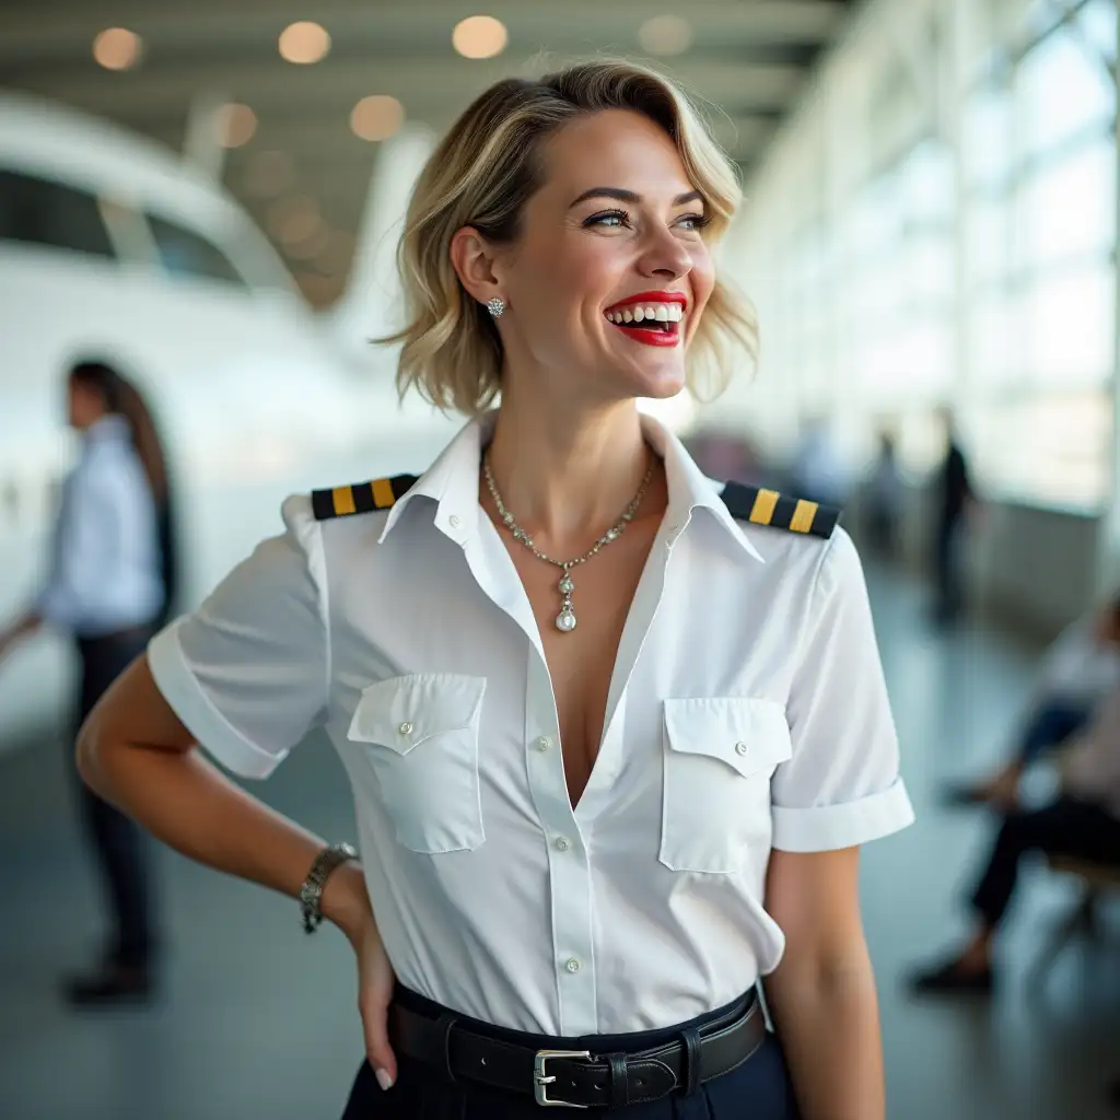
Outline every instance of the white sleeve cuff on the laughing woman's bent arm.
<path id="1" fill-rule="evenodd" d="M 148 665 L 159 691 L 199 746 L 226 769 L 241 777 L 268 777 L 284 755 L 262 750 L 214 707 L 190 671 L 179 643 L 178 631 L 184 622 L 180 618 L 171 623 L 148 644 Z"/>

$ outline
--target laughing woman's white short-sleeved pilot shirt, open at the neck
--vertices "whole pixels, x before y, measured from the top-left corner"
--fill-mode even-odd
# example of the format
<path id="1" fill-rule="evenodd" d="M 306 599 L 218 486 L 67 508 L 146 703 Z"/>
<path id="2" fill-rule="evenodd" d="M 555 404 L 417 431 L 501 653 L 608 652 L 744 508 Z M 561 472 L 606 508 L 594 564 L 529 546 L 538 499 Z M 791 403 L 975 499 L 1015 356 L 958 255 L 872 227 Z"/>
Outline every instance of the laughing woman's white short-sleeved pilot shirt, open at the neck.
<path id="1" fill-rule="evenodd" d="M 669 506 L 573 811 L 532 609 L 478 502 L 493 413 L 391 510 L 264 541 L 149 647 L 183 722 L 263 778 L 323 726 L 401 983 L 547 1035 L 671 1026 L 771 972 L 771 848 L 913 819 L 859 559 L 736 521 L 643 418 Z M 577 600 L 578 607 L 578 600 Z"/>

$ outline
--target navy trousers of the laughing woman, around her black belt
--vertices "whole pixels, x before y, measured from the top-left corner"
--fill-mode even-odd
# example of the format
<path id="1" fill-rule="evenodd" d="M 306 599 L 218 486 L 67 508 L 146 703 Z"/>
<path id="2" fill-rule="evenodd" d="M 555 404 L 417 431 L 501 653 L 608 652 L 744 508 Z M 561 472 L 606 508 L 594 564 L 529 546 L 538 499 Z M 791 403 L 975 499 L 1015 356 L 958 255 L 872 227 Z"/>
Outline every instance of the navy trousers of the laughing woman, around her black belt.
<path id="1" fill-rule="evenodd" d="M 441 1008 L 410 991 L 398 998 L 413 1010 Z M 589 1049 L 592 1053 L 638 1051 L 659 1046 L 679 1036 L 682 1027 L 701 1026 L 703 1016 L 668 1030 L 629 1035 L 598 1035 L 592 1038 L 549 1038 L 488 1028 L 489 1034 L 533 1049 Z M 469 1020 L 467 1020 L 469 1021 Z M 367 1062 L 362 1064 L 351 1091 L 343 1120 L 541 1120 L 542 1117 L 571 1116 L 607 1120 L 800 1120 L 793 1085 L 777 1038 L 766 1040 L 738 1068 L 704 1082 L 691 1096 L 671 1095 L 647 1104 L 606 1109 L 551 1109 L 541 1107 L 528 1094 L 507 1093 L 463 1081 L 456 1083 L 435 1066 L 398 1054 L 396 1084 L 382 1092 Z"/>

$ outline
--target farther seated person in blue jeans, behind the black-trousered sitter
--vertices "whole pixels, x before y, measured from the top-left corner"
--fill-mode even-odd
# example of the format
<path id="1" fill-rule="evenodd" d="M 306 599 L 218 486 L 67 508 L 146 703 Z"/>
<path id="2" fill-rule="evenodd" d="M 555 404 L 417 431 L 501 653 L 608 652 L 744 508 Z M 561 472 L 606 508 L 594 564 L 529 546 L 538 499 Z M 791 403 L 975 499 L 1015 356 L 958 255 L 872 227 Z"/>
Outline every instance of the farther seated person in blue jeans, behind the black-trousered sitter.
<path id="1" fill-rule="evenodd" d="M 1015 758 L 980 783 L 951 788 L 949 800 L 1017 808 L 1027 766 L 1080 731 L 1117 684 L 1120 595 L 1066 627 L 1047 650 Z"/>

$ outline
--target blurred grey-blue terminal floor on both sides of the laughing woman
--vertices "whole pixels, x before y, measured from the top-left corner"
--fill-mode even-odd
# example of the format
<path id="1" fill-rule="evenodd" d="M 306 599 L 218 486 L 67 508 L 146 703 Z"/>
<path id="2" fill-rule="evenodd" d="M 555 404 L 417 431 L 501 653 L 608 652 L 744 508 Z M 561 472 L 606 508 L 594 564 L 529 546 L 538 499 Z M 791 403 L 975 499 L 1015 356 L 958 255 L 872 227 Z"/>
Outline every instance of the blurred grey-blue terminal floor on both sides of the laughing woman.
<path id="1" fill-rule="evenodd" d="M 937 790 L 999 756 L 1037 651 L 976 627 L 934 634 L 916 585 L 877 570 L 870 584 L 918 813 L 864 855 L 888 1114 L 1105 1120 L 1118 1114 L 1103 1091 L 1120 1076 L 1120 923 L 1102 945 L 1074 945 L 1042 990 L 1026 979 L 1039 939 L 1075 897 L 1071 884 L 1028 875 L 990 1004 L 903 990 L 907 968 L 964 928 L 960 890 L 989 836 L 982 814 L 940 808 Z M 324 757 L 296 752 L 258 792 L 321 834 L 352 837 L 340 766 Z M 306 937 L 291 902 L 172 852 L 158 864 L 170 931 L 159 1001 L 100 1014 L 60 1005 L 58 973 L 88 960 L 99 930 L 65 767 L 58 743 L 0 756 L 0 1118 L 337 1117 L 362 1053 L 345 941 L 333 930 Z"/>

